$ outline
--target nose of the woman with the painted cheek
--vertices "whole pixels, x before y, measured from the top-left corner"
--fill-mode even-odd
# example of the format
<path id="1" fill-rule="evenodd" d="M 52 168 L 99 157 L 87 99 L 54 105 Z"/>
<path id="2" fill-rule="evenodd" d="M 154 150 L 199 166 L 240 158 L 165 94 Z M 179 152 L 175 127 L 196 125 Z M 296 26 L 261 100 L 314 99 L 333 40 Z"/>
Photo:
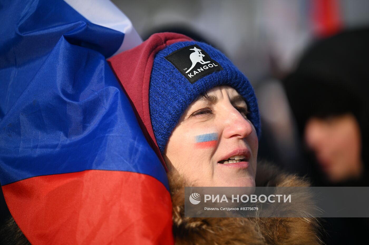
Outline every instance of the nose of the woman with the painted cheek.
<path id="1" fill-rule="evenodd" d="M 232 108 L 225 120 L 223 135 L 226 138 L 246 138 L 252 133 L 252 124 L 237 109 Z"/>

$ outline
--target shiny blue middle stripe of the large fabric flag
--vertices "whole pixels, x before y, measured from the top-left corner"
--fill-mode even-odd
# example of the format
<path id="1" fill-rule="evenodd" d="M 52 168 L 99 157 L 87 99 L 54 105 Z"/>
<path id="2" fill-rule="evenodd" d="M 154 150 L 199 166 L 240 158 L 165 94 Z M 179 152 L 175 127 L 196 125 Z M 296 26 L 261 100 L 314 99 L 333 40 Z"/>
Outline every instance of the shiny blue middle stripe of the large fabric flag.
<path id="1" fill-rule="evenodd" d="M 9 1 L 0 18 L 1 185 L 96 169 L 148 174 L 169 189 L 106 62 L 124 34 L 62 0 Z"/>

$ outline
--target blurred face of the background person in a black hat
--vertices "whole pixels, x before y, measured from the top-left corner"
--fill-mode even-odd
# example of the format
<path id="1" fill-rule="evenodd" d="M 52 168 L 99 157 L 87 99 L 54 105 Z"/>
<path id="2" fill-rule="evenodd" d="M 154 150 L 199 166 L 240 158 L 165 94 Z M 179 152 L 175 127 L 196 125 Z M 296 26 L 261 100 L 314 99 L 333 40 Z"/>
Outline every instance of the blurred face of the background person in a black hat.
<path id="1" fill-rule="evenodd" d="M 363 168 L 360 127 L 352 114 L 310 118 L 305 139 L 330 181 L 360 177 Z"/>

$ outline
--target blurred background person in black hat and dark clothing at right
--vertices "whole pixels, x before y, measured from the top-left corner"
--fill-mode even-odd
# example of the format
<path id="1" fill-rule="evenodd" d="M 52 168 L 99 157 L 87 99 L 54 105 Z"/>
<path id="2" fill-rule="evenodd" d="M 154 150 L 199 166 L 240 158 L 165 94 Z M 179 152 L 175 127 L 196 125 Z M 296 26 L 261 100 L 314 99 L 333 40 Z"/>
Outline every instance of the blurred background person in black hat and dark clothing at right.
<path id="1" fill-rule="evenodd" d="M 315 43 L 284 81 L 315 186 L 368 186 L 369 28 Z M 362 244 L 367 218 L 327 218 L 327 244 Z"/>

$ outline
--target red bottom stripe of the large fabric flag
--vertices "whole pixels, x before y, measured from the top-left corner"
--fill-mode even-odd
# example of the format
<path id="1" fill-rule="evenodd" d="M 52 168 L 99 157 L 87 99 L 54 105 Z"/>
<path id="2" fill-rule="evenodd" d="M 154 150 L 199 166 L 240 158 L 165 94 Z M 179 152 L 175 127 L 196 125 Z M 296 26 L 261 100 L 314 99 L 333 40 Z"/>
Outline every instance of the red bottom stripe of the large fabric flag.
<path id="1" fill-rule="evenodd" d="M 32 244 L 173 244 L 172 202 L 155 178 L 86 170 L 4 185 L 14 220 Z"/>

